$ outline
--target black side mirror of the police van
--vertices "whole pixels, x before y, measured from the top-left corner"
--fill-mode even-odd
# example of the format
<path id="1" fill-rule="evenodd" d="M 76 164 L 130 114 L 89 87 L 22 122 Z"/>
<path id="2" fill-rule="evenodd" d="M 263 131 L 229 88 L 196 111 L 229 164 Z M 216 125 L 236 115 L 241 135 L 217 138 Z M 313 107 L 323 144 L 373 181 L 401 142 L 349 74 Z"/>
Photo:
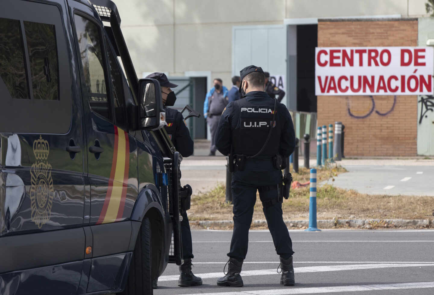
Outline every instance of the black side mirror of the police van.
<path id="1" fill-rule="evenodd" d="M 140 79 L 138 128 L 139 130 L 161 129 L 166 123 L 166 112 L 161 98 L 160 82 L 155 79 Z"/>

